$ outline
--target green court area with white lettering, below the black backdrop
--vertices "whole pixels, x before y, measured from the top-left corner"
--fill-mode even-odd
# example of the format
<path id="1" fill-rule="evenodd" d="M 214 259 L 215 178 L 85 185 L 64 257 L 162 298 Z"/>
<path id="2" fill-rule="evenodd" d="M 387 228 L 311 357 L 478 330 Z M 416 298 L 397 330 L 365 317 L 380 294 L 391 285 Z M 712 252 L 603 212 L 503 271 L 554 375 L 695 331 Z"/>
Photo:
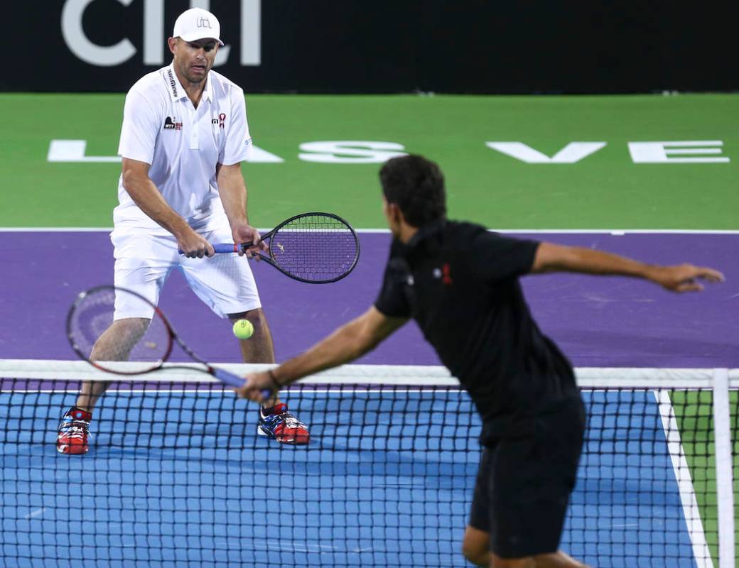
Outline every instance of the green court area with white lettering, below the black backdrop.
<path id="1" fill-rule="evenodd" d="M 247 86 L 248 92 L 248 86 Z M 47 162 L 50 140 L 86 140 L 115 156 L 123 95 L 0 95 L 4 188 L 0 226 L 111 225 L 118 163 Z M 285 160 L 244 165 L 251 219 L 336 211 L 382 227 L 377 163 L 299 159 L 302 143 L 401 144 L 440 162 L 450 216 L 499 228 L 736 229 L 739 95 L 599 97 L 248 95 L 256 146 Z M 638 141 L 721 141 L 723 163 L 634 163 Z M 552 156 L 605 142 L 569 164 L 531 164 L 486 142 L 525 143 Z M 692 154 L 700 157 L 700 154 Z"/>

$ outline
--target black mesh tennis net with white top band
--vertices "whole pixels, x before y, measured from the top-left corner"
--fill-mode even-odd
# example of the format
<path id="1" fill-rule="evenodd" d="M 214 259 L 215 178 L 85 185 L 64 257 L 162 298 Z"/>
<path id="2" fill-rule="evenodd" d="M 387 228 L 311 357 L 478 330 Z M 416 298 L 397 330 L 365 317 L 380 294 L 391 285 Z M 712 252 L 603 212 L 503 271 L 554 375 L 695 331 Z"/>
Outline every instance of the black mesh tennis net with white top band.
<path id="1" fill-rule="evenodd" d="M 225 364 L 246 373 L 264 366 Z M 81 361 L 0 360 L 0 567 L 455 567 L 480 421 L 446 369 L 344 366 L 283 399 L 307 446 L 205 374 L 115 380 L 55 451 Z M 734 566 L 739 372 L 578 369 L 588 409 L 562 550 L 593 567 Z M 732 471 L 733 468 L 733 471 Z"/>

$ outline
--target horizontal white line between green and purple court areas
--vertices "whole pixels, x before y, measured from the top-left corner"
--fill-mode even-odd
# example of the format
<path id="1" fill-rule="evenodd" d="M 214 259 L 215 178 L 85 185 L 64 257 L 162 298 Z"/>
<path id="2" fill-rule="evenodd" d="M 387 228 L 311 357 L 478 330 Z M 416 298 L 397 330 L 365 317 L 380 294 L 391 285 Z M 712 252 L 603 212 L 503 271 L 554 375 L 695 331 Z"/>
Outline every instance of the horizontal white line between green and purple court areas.
<path id="1" fill-rule="evenodd" d="M 266 232 L 272 227 L 261 227 Z M 113 227 L 0 227 L 0 233 L 109 233 Z M 389 233 L 389 229 L 355 229 L 357 233 Z M 721 229 L 499 229 L 491 228 L 498 233 L 551 233 L 562 235 L 739 235 L 739 230 Z"/>

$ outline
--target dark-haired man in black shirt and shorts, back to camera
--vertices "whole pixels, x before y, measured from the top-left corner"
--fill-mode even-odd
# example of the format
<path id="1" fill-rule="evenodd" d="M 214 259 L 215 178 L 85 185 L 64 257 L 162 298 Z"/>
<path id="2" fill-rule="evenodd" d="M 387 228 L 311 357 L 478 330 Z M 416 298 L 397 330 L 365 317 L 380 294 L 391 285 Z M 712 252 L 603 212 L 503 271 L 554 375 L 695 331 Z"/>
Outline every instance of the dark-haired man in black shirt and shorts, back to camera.
<path id="1" fill-rule="evenodd" d="M 697 278 L 723 276 L 448 221 L 443 176 L 420 156 L 389 160 L 380 179 L 394 240 L 375 305 L 304 354 L 249 377 L 239 394 L 261 401 L 263 390 L 349 363 L 414 318 L 483 419 L 464 555 L 483 567 L 583 567 L 557 549 L 585 411 L 570 362 L 539 331 L 518 278 L 556 271 L 621 275 L 687 292 L 702 290 Z"/>

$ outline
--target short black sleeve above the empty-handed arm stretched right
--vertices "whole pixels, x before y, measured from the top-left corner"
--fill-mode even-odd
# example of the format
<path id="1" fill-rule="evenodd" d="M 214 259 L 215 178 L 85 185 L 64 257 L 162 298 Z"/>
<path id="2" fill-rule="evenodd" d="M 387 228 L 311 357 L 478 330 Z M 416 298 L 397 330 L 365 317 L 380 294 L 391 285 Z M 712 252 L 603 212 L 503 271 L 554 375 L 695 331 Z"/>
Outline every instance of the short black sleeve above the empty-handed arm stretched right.
<path id="1" fill-rule="evenodd" d="M 471 262 L 489 284 L 529 273 L 538 247 L 538 241 L 511 239 L 482 228 L 469 242 Z"/>

